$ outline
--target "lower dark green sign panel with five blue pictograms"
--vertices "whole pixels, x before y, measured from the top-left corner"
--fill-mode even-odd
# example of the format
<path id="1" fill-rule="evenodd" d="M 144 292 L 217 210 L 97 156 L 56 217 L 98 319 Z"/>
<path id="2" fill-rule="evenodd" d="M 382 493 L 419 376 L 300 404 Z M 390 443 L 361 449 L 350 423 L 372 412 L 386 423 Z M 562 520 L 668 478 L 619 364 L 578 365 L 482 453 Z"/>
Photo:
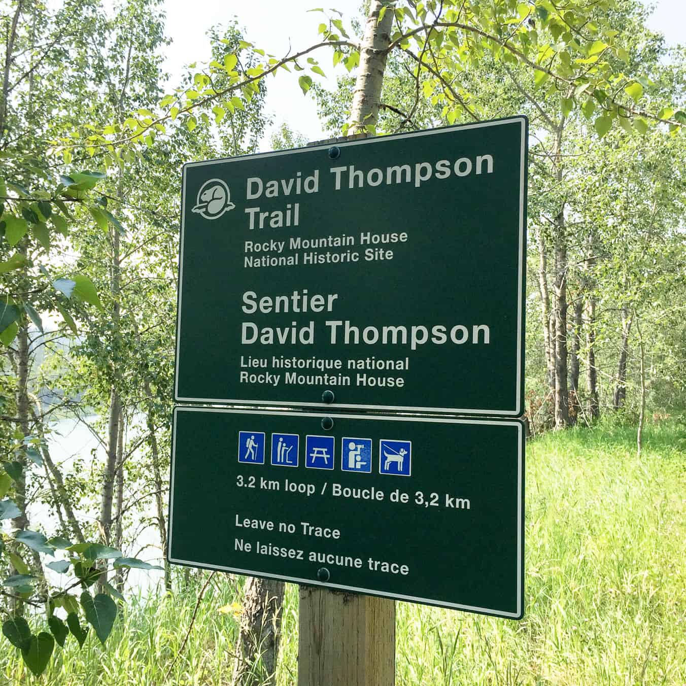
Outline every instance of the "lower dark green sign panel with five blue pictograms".
<path id="1" fill-rule="evenodd" d="M 169 562 L 523 615 L 519 421 L 177 407 Z"/>

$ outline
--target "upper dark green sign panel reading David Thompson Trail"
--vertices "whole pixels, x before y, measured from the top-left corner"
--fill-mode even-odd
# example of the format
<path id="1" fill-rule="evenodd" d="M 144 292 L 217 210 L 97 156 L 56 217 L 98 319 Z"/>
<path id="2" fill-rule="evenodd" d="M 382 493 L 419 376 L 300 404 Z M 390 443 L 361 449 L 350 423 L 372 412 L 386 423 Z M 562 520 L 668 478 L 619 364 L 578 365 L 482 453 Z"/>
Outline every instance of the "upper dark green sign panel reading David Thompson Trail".
<path id="1" fill-rule="evenodd" d="M 175 399 L 519 416 L 527 121 L 185 165 Z"/>

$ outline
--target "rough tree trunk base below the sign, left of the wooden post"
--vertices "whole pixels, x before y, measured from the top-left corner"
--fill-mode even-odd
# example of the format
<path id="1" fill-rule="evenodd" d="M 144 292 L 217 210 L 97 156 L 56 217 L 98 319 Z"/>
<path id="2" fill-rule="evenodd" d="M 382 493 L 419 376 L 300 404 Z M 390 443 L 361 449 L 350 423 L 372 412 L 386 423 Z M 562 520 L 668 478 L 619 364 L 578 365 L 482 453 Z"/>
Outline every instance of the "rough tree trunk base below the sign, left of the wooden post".
<path id="1" fill-rule="evenodd" d="M 284 585 L 271 579 L 246 580 L 233 686 L 274 685 Z"/>

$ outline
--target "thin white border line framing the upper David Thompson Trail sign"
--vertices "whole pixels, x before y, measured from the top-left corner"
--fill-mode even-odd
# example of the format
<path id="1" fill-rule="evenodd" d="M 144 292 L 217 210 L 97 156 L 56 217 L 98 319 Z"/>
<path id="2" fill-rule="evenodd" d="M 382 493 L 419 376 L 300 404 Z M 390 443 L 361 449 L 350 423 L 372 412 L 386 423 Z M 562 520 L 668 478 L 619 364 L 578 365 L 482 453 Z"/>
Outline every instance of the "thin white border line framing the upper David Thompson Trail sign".
<path id="1" fill-rule="evenodd" d="M 517 381 L 515 383 L 515 401 L 514 410 L 475 410 L 471 407 L 416 407 L 414 405 L 361 405 L 355 403 L 336 403 L 336 407 L 345 408 L 347 410 L 391 410 L 393 412 L 437 412 L 446 414 L 483 414 L 488 416 L 507 416 L 519 417 L 523 414 L 522 401 L 522 383 L 523 383 L 523 365 L 524 359 L 522 354 L 522 346 L 524 339 L 523 331 L 523 298 L 525 292 L 525 250 L 524 250 L 524 226 L 525 226 L 525 197 L 526 197 L 526 167 L 525 167 L 525 150 L 526 150 L 526 131 L 528 119 L 523 115 L 517 117 L 508 117 L 506 119 L 497 119 L 495 121 L 482 121 L 474 124 L 464 124 L 460 126 L 443 127 L 438 129 L 430 129 L 425 131 L 416 131 L 407 134 L 394 134 L 390 136 L 380 136 L 371 139 L 356 139 L 355 141 L 342 141 L 335 143 L 336 147 L 348 147 L 351 145 L 373 145 L 375 143 L 383 143 L 388 140 L 398 140 L 405 138 L 414 138 L 418 136 L 432 136 L 444 133 L 453 133 L 456 131 L 464 131 L 475 128 L 486 128 L 489 126 L 502 126 L 519 121 L 521 124 L 521 148 L 520 148 L 520 169 L 519 169 L 519 269 L 517 271 L 517 284 L 519 292 L 517 294 Z M 183 165 L 183 180 L 181 190 L 181 230 L 179 237 L 179 265 L 178 265 L 178 301 L 176 314 L 176 360 L 174 370 L 174 401 L 178 403 L 205 403 L 217 405 L 274 405 L 276 407 L 292 406 L 292 407 L 330 407 L 326 403 L 307 403 L 303 401 L 271 401 L 271 400 L 253 400 L 245 398 L 190 398 L 180 397 L 178 394 L 178 365 L 179 365 L 179 351 L 181 340 L 181 298 L 183 283 L 183 246 L 184 246 L 184 231 L 185 231 L 185 217 L 186 217 L 186 169 L 190 167 L 204 167 L 206 165 L 224 164 L 246 158 L 258 159 L 263 157 L 278 157 L 281 155 L 293 155 L 301 152 L 314 152 L 316 150 L 328 150 L 333 143 L 326 143 L 324 145 L 313 145 L 311 147 L 298 147 L 294 150 L 277 150 L 274 152 L 261 152 L 254 155 L 241 155 L 231 158 L 223 158 L 217 160 L 206 160 L 202 162 L 189 162 Z"/>

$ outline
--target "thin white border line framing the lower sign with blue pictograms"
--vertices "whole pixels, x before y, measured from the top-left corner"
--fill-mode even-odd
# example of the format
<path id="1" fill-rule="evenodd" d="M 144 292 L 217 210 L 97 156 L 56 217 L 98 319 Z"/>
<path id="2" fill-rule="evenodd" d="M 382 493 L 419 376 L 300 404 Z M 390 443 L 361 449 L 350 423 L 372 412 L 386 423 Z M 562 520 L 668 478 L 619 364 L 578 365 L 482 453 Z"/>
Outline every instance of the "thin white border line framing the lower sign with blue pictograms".
<path id="1" fill-rule="evenodd" d="M 524 613 L 523 606 L 523 554 L 524 554 L 524 522 L 523 522 L 523 425 L 519 421 L 487 421 L 484 419 L 453 419 L 448 417 L 398 417 L 398 416 L 375 416 L 366 414 L 329 414 L 331 418 L 340 419 L 364 419 L 366 421 L 418 421 L 441 424 L 479 424 L 493 426 L 516 426 L 517 427 L 517 612 L 504 612 L 493 608 L 475 607 L 472 605 L 462 605 L 459 603 L 449 603 L 442 600 L 431 598 L 421 598 L 414 595 L 401 595 L 399 593 L 383 593 L 374 589 L 364 589 L 355 586 L 344 586 L 342 584 L 320 583 L 315 579 L 301 579 L 294 576 L 282 576 L 281 574 L 266 574 L 255 569 L 241 569 L 240 567 L 224 567 L 222 565 L 212 565 L 198 560 L 180 560 L 171 556 L 171 541 L 174 523 L 174 466 L 176 463 L 176 415 L 178 412 L 215 412 L 219 414 L 264 414 L 265 416 L 294 416 L 294 412 L 274 412 L 272 410 L 233 410 L 219 407 L 174 407 L 174 423 L 171 436 L 171 481 L 169 484 L 169 530 L 167 531 L 167 560 L 176 565 L 190 565 L 191 567 L 202 567 L 202 569 L 217 569 L 218 571 L 230 571 L 237 574 L 248 576 L 259 576 L 263 578 L 279 579 L 296 584 L 306 584 L 308 586 L 319 586 L 322 588 L 338 589 L 340 591 L 354 591 L 355 593 L 366 593 L 367 595 L 378 595 L 382 598 L 393 598 L 405 602 L 418 602 L 425 605 L 451 608 L 453 610 L 463 610 L 466 612 L 480 613 L 495 617 L 506 617 L 508 619 L 521 619 Z M 320 413 L 298 412 L 298 417 L 313 417 L 320 419 Z"/>

